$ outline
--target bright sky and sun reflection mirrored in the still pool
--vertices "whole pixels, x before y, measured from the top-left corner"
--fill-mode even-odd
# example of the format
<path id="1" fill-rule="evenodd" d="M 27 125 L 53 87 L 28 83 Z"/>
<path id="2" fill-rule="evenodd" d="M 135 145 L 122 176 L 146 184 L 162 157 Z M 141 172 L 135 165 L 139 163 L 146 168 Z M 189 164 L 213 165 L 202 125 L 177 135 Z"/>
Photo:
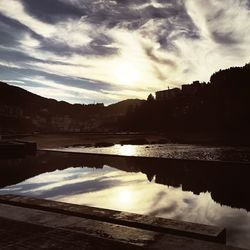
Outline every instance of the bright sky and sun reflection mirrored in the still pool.
<path id="1" fill-rule="evenodd" d="M 195 195 L 181 186 L 157 184 L 154 178 L 150 182 L 140 172 L 109 166 L 71 167 L 0 190 L 5 193 L 223 226 L 228 244 L 250 249 L 250 214 L 246 210 L 222 206 L 209 192 Z"/>

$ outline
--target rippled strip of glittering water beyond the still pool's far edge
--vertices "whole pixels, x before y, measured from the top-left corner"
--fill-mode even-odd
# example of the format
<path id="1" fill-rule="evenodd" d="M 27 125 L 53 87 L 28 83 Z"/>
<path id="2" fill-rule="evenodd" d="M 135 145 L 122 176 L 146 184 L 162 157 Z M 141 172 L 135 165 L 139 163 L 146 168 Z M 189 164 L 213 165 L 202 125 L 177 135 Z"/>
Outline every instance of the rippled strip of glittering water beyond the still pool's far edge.
<path id="1" fill-rule="evenodd" d="M 219 147 L 193 144 L 149 144 L 120 145 L 111 147 L 67 147 L 66 152 L 100 153 L 112 155 L 133 155 L 145 157 L 163 157 L 174 159 L 226 160 L 250 162 L 249 147 Z"/>

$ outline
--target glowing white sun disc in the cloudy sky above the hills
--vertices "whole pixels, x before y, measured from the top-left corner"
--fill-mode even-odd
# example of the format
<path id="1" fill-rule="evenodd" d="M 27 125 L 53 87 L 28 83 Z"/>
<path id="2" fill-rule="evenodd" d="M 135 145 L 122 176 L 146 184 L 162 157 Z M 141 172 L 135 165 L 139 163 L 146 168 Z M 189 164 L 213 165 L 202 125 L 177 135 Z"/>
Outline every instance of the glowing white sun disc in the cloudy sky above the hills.
<path id="1" fill-rule="evenodd" d="M 122 85 L 134 85 L 140 79 L 140 72 L 131 63 L 118 63 L 113 69 L 116 81 Z"/>

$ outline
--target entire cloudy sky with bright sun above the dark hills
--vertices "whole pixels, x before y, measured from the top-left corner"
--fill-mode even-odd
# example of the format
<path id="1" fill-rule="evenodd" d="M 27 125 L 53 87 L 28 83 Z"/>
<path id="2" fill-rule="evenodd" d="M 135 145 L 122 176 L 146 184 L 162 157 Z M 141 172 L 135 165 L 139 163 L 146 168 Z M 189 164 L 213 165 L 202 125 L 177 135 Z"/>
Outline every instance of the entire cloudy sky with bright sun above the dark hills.
<path id="1" fill-rule="evenodd" d="M 0 0 L 0 81 L 70 103 L 208 82 L 249 44 L 250 0 Z"/>

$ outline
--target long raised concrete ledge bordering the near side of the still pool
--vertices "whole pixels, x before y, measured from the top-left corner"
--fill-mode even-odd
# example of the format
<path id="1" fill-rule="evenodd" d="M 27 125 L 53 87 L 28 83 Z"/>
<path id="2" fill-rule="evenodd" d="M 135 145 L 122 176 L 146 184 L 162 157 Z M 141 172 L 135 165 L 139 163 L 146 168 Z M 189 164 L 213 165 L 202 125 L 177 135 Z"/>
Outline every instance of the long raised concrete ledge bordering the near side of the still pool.
<path id="1" fill-rule="evenodd" d="M 146 215 L 138 215 L 17 195 L 0 196 L 0 203 L 38 209 L 42 211 L 56 212 L 65 215 L 146 229 L 160 233 L 173 234 L 176 236 L 190 237 L 199 240 L 218 243 L 226 242 L 226 230 L 224 228 L 215 226 L 175 221 Z"/>

